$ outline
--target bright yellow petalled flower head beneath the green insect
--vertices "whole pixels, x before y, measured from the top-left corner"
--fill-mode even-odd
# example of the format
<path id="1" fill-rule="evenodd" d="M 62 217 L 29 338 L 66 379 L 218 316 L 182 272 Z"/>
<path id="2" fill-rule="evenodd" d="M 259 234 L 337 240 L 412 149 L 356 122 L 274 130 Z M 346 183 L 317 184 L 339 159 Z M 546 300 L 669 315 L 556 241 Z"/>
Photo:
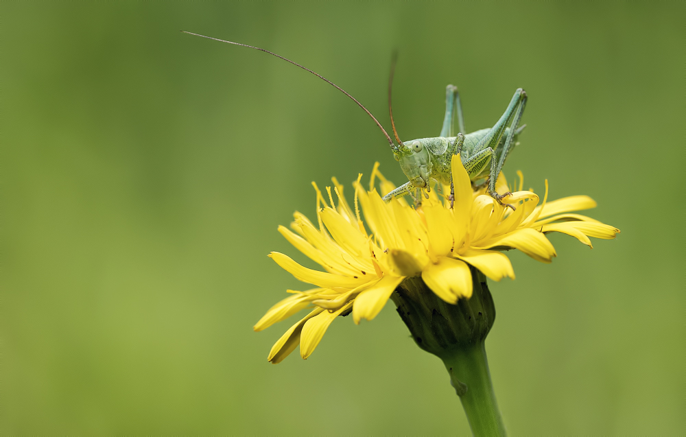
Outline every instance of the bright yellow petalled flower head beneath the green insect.
<path id="1" fill-rule="evenodd" d="M 309 357 L 329 324 L 352 311 L 353 320 L 372 320 L 404 279 L 421 276 L 427 286 L 447 303 L 472 294 L 469 265 L 494 281 L 514 271 L 501 250 L 519 249 L 533 259 L 550 262 L 556 252 L 545 233 L 566 233 L 591 246 L 589 237 L 611 239 L 619 230 L 584 215 L 569 213 L 595 206 L 588 196 L 571 196 L 539 205 L 532 191 L 519 191 L 506 201 L 516 209 L 505 208 L 484 189 L 473 191 L 469 176 L 459 158 L 453 158 L 455 202 L 440 200 L 436 190 L 416 209 L 403 199 L 386 204 L 374 188 L 375 178 L 385 193 L 394 188 L 378 171 L 372 170 L 370 189 L 365 191 L 357 178 L 355 209 L 343 196 L 343 187 L 333 178 L 333 194 L 327 187 L 329 204 L 314 184 L 317 193 L 318 226 L 296 212 L 293 231 L 279 226 L 279 232 L 296 249 L 318 263 L 322 270 L 305 268 L 279 252 L 270 257 L 300 281 L 315 285 L 304 292 L 289 290 L 292 296 L 281 300 L 255 324 L 261 331 L 301 309 L 313 308 L 305 318 L 286 331 L 274 344 L 268 360 L 281 362 L 300 344 L 300 355 Z M 507 190 L 499 176 L 497 191 Z M 443 192 L 449 187 L 443 187 Z M 447 197 L 447 196 L 443 196 Z M 359 206 L 370 233 L 360 218 Z M 592 247 L 592 246 L 591 246 Z"/>

